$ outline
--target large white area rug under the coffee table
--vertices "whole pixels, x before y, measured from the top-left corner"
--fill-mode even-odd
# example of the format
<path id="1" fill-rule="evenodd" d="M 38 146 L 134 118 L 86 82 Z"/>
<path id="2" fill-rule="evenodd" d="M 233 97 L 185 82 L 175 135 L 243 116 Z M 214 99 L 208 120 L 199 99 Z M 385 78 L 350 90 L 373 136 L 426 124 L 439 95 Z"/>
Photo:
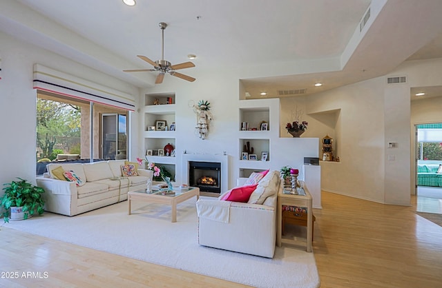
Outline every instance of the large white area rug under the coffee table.
<path id="1" fill-rule="evenodd" d="M 124 201 L 74 217 L 46 212 L 7 227 L 253 287 L 320 285 L 314 254 L 298 247 L 276 247 L 269 259 L 198 245 L 195 198 L 178 205 L 176 223 L 166 205 L 133 203 L 133 213 Z"/>

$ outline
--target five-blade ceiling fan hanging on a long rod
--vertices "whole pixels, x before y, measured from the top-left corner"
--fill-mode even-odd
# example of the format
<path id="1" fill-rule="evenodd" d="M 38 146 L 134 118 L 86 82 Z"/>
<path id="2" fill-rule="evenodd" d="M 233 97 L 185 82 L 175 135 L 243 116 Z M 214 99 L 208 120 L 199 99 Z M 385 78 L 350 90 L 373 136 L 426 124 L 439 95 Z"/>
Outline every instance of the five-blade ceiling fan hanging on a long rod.
<path id="1" fill-rule="evenodd" d="M 160 28 L 161 28 L 161 34 L 162 34 L 162 47 L 161 47 L 161 60 L 152 61 L 151 59 L 148 59 L 146 56 L 137 55 L 138 58 L 146 61 L 147 63 L 153 65 L 153 69 L 133 69 L 133 70 L 123 70 L 123 72 L 146 72 L 146 71 L 159 71 L 160 74 L 158 74 L 157 79 L 155 79 L 155 84 L 160 84 L 163 82 L 164 74 L 169 73 L 172 76 L 193 82 L 196 79 L 187 76 L 178 72 L 175 72 L 175 70 L 180 70 L 184 68 L 191 68 L 195 67 L 195 64 L 192 62 L 184 62 L 176 65 L 172 65 L 169 61 L 164 60 L 164 29 L 166 29 L 167 24 L 164 22 L 160 22 Z"/>

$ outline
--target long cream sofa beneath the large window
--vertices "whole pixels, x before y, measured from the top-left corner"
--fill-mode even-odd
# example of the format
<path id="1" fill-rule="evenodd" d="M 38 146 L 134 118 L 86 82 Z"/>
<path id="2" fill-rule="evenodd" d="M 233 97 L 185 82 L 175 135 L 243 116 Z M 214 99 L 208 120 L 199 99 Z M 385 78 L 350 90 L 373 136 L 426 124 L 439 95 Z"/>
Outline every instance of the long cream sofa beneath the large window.
<path id="1" fill-rule="evenodd" d="M 74 216 L 93 209 L 118 203 L 127 199 L 129 190 L 144 189 L 153 178 L 153 172 L 138 169 L 139 176 L 122 177 L 124 160 L 109 160 L 95 163 L 50 163 L 48 173 L 37 177 L 37 186 L 45 189 L 45 210 Z M 62 167 L 73 171 L 84 185 L 56 179 L 52 170 Z"/>

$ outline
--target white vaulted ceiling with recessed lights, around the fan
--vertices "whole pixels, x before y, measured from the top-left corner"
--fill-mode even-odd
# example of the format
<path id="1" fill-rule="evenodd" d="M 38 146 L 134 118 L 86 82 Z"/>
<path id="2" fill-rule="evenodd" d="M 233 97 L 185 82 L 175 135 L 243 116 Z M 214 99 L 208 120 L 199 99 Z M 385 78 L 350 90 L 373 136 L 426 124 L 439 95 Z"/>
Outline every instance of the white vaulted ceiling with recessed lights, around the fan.
<path id="1" fill-rule="evenodd" d="M 312 94 L 382 76 L 407 59 L 442 57 L 441 12 L 441 0 L 137 0 L 133 7 L 0 0 L 0 30 L 148 88 L 156 72 L 122 70 L 151 68 L 137 54 L 161 58 L 158 23 L 166 22 L 164 59 L 176 64 L 196 54 L 196 67 L 180 70 L 189 76 L 238 70 L 258 98 L 261 91 Z M 315 81 L 324 85 L 314 88 Z"/>

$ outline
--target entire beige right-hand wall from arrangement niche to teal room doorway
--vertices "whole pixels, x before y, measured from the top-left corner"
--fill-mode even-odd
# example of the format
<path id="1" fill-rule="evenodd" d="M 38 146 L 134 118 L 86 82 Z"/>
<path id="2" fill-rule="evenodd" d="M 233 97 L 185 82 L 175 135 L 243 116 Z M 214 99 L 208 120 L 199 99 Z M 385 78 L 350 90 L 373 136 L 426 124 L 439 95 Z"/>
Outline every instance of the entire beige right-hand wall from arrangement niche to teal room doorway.
<path id="1" fill-rule="evenodd" d="M 327 133 L 338 142 L 334 154 L 340 163 L 321 163 L 321 188 L 379 203 L 410 205 L 415 185 L 415 140 L 410 123 L 442 121 L 442 100 L 410 104 L 410 89 L 442 85 L 441 71 L 442 59 L 406 61 L 376 79 L 287 100 L 281 115 L 289 113 L 289 103 L 291 107 L 304 105 L 309 116 L 340 110 L 334 126 L 309 119 L 309 136 L 323 138 Z M 388 76 L 403 75 L 407 83 L 386 84 Z M 388 142 L 396 142 L 398 147 L 387 148 Z"/>

